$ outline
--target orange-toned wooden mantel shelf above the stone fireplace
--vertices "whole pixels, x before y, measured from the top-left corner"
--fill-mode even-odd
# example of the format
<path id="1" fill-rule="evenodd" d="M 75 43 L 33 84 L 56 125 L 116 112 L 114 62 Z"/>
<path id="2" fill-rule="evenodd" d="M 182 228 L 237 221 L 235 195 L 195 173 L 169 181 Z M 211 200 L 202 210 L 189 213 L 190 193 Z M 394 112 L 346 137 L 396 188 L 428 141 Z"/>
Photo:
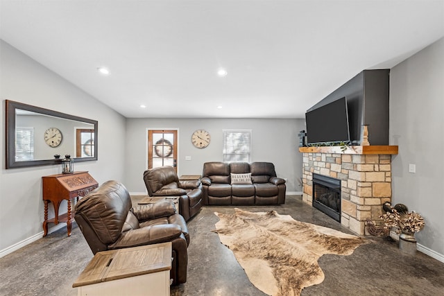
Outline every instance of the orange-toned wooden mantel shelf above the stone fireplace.
<path id="1" fill-rule="evenodd" d="M 300 153 L 341 153 L 341 154 L 398 154 L 398 146 L 342 146 L 299 147 Z"/>

